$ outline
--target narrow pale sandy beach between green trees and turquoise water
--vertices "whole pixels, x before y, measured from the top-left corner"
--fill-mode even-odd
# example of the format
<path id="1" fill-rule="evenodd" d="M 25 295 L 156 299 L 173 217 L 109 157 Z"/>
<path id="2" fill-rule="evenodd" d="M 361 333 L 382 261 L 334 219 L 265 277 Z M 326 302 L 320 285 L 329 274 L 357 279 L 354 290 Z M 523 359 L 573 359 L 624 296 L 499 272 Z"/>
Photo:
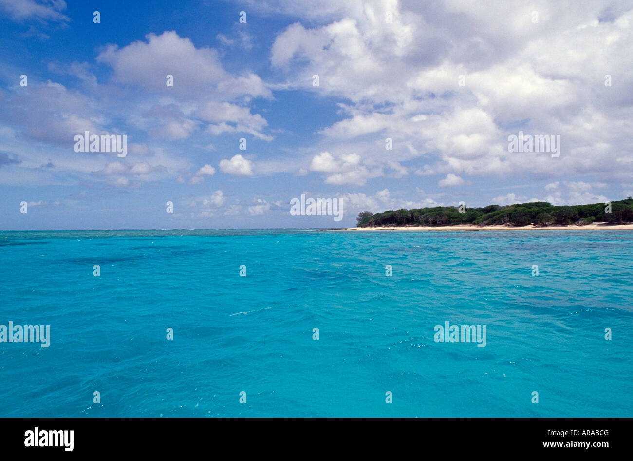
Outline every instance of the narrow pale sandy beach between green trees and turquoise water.
<path id="1" fill-rule="evenodd" d="M 341 229 L 318 229 L 318 230 L 360 230 L 360 231 L 372 231 L 372 230 L 633 230 L 633 224 L 606 224 L 606 223 L 594 223 L 586 225 L 551 225 L 551 226 L 535 226 L 535 225 L 523 225 L 523 226 L 509 226 L 503 224 L 494 225 L 473 225 L 473 224 L 458 224 L 458 225 L 442 225 L 442 226 L 430 226 L 430 225 L 416 225 L 416 226 L 394 226 L 394 227 L 346 227 Z"/>

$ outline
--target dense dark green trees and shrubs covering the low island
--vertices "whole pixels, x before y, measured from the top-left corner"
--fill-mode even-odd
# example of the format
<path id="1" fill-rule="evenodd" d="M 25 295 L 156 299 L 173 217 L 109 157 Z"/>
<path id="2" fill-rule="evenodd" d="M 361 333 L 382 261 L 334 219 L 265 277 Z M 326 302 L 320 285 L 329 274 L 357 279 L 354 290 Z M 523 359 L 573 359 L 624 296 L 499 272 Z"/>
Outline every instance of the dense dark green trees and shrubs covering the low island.
<path id="1" fill-rule="evenodd" d="M 372 215 L 363 212 L 356 222 L 359 227 L 401 226 L 401 225 L 565 225 L 608 222 L 625 224 L 633 222 L 633 199 L 611 202 L 611 210 L 604 203 L 591 205 L 553 206 L 548 202 L 517 203 L 515 205 L 488 205 L 483 208 L 463 208 L 460 213 L 456 206 L 435 206 L 434 208 L 414 208 L 413 210 L 389 210 Z M 609 213 L 610 211 L 610 213 Z"/>

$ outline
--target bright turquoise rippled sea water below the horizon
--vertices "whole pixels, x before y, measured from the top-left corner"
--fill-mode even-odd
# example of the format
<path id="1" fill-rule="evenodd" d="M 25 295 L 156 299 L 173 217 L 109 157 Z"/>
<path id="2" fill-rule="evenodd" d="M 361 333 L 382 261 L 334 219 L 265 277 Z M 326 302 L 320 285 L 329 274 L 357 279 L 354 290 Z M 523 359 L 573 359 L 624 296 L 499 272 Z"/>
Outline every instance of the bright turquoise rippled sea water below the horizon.
<path id="1" fill-rule="evenodd" d="M 0 324 L 51 325 L 0 343 L 0 417 L 630 417 L 632 261 L 617 230 L 0 232 Z"/>

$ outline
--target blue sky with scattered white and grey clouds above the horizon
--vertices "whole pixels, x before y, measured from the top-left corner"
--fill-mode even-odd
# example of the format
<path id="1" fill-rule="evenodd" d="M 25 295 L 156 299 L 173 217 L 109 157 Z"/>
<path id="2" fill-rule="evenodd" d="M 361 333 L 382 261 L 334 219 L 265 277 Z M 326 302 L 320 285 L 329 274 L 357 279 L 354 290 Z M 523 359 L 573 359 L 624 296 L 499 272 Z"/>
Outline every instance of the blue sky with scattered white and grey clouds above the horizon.
<path id="1" fill-rule="evenodd" d="M 0 0 L 0 28 L 0 229 L 633 195 L 627 1 Z M 86 130 L 127 156 L 75 152 Z M 560 156 L 509 152 L 520 130 Z M 342 221 L 292 216 L 301 194 Z"/>

